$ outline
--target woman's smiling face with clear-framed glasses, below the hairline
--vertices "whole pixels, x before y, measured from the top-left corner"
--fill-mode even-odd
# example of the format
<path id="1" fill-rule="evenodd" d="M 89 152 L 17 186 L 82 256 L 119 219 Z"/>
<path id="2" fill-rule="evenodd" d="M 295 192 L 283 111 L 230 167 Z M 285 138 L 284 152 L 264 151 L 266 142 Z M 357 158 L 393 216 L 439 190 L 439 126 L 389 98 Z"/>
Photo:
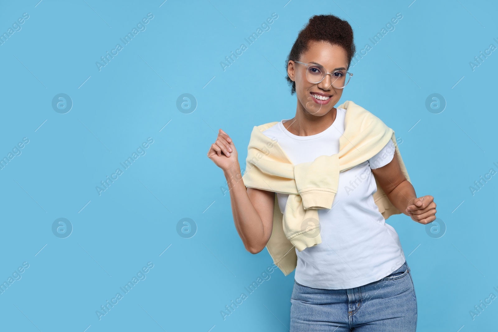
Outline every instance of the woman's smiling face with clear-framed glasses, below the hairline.
<path id="1" fill-rule="evenodd" d="M 319 64 L 329 73 L 348 69 L 346 50 L 339 45 L 332 45 L 326 41 L 311 40 L 308 50 L 301 54 L 300 62 Z M 343 89 L 332 85 L 331 75 L 325 76 L 320 83 L 310 83 L 306 78 L 305 65 L 290 60 L 287 64 L 287 74 L 296 83 L 297 108 L 305 113 L 323 116 L 334 109 L 341 99 Z M 311 69 L 316 72 L 316 69 Z M 336 84 L 337 85 L 337 84 Z"/>

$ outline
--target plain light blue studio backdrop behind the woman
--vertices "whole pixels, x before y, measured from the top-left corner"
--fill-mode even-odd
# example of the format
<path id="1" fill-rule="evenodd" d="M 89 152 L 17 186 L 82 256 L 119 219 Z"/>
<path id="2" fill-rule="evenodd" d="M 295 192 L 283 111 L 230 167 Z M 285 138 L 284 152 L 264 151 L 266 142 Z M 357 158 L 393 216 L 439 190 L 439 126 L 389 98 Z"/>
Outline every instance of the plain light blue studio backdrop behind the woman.
<path id="1" fill-rule="evenodd" d="M 469 65 L 498 46 L 496 2 L 38 1 L 0 4 L 2 33 L 29 14 L 0 45 L 0 156 L 29 139 L 0 170 L 0 281 L 29 263 L 0 294 L 1 330 L 288 331 L 293 273 L 275 270 L 226 320 L 220 314 L 272 260 L 266 249 L 245 250 L 207 152 L 222 128 L 245 167 L 252 127 L 294 116 L 282 74 L 310 16 L 348 20 L 361 50 L 398 12 L 395 29 L 351 68 L 340 103 L 395 130 L 417 196 L 434 196 L 446 224 L 433 238 L 407 216 L 388 219 L 411 267 L 418 331 L 497 328 L 497 300 L 469 314 L 498 296 L 498 180 L 474 196 L 469 189 L 498 170 L 498 52 Z M 146 30 L 99 71 L 100 57 L 149 12 Z M 223 71 L 220 62 L 274 12 L 271 29 Z M 51 106 L 60 93 L 73 102 L 65 114 Z M 184 93 L 198 103 L 188 114 L 176 107 Z M 439 114 L 425 107 L 433 93 L 447 103 Z M 95 187 L 147 137 L 146 154 L 99 196 Z M 52 233 L 58 218 L 72 223 L 69 237 Z M 177 233 L 183 218 L 197 225 L 191 238 Z M 149 261 L 146 279 L 99 320 L 101 305 Z"/>

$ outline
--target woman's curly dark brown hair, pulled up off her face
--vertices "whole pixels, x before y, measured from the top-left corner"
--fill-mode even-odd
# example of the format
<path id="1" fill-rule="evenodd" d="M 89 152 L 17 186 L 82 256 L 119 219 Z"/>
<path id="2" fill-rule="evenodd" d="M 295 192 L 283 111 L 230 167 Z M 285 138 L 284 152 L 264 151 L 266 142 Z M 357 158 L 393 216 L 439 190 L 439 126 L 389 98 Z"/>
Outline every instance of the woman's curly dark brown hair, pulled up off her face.
<path id="1" fill-rule="evenodd" d="M 310 40 L 327 41 L 332 45 L 342 46 L 349 59 L 348 68 L 351 65 L 351 59 L 353 59 L 356 52 L 351 25 L 335 15 L 313 15 L 308 24 L 299 31 L 297 39 L 292 45 L 292 49 L 285 61 L 286 72 L 289 60 L 299 61 L 301 54 L 308 50 Z M 291 87 L 290 94 L 295 94 L 296 82 L 292 81 L 289 76 L 286 77 L 286 80 Z"/>

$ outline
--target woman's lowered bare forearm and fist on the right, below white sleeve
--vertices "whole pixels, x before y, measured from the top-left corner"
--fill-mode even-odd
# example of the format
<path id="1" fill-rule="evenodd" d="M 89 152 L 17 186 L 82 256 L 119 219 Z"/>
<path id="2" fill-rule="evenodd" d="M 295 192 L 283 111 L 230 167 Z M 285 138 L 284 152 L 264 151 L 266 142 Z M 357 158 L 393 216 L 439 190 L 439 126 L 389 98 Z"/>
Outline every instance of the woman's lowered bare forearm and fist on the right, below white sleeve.
<path id="1" fill-rule="evenodd" d="M 436 220 L 434 197 L 417 198 L 415 189 L 401 172 L 396 153 L 387 165 L 373 169 L 372 173 L 392 205 L 403 214 L 423 224 Z"/>

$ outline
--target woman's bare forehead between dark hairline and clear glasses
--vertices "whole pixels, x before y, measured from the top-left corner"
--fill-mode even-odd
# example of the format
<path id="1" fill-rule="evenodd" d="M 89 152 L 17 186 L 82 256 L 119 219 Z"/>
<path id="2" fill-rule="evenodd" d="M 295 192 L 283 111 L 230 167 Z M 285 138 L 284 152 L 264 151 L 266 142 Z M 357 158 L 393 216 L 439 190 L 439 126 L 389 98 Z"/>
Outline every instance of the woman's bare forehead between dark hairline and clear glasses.
<path id="1" fill-rule="evenodd" d="M 300 61 L 317 62 L 328 69 L 348 66 L 346 50 L 327 41 L 310 40 L 308 50 L 301 54 Z"/>

